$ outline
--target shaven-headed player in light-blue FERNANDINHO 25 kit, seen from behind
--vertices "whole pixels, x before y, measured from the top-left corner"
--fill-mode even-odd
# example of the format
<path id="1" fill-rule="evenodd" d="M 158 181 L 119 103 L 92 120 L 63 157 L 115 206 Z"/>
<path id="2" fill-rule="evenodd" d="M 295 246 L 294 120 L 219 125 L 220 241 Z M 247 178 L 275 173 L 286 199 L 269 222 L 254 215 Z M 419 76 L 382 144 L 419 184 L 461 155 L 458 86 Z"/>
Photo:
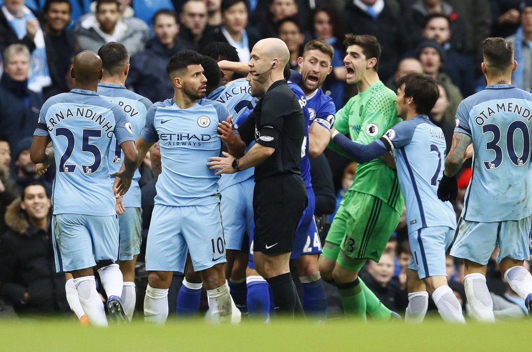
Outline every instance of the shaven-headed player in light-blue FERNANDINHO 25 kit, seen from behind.
<path id="1" fill-rule="evenodd" d="M 31 160 L 57 165 L 54 182 L 53 231 L 57 271 L 70 272 L 91 324 L 106 326 L 104 306 L 96 291 L 93 267 L 107 294 L 115 320 L 126 321 L 120 296 L 122 273 L 115 264 L 119 251 L 118 217 L 107 157 L 113 135 L 124 152 L 124 178 L 130 185 L 137 162 L 131 124 L 123 110 L 96 94 L 102 60 L 84 51 L 73 61 L 75 89 L 49 98 L 40 111 L 31 145 Z M 52 140 L 53 150 L 46 146 Z M 53 156 L 52 156 L 53 155 Z"/>

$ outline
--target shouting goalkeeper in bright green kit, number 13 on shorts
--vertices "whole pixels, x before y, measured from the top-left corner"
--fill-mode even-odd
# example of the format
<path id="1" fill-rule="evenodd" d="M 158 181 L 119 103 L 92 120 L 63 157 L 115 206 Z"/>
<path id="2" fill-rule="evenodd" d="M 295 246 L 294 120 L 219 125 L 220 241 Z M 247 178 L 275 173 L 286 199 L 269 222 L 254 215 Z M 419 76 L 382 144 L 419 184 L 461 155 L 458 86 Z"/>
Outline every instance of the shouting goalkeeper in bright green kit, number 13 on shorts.
<path id="1" fill-rule="evenodd" d="M 368 35 L 347 35 L 344 58 L 348 84 L 356 84 L 352 97 L 336 115 L 334 127 L 349 133 L 359 144 L 369 144 L 398 121 L 395 94 L 379 80 L 377 66 L 381 53 L 377 39 Z M 334 280 L 347 316 L 365 320 L 389 319 L 391 313 L 359 279 L 367 259 L 378 262 L 388 238 L 397 227 L 404 199 L 397 173 L 377 159 L 359 165 L 350 190 L 332 221 L 319 268 L 323 279 Z"/>

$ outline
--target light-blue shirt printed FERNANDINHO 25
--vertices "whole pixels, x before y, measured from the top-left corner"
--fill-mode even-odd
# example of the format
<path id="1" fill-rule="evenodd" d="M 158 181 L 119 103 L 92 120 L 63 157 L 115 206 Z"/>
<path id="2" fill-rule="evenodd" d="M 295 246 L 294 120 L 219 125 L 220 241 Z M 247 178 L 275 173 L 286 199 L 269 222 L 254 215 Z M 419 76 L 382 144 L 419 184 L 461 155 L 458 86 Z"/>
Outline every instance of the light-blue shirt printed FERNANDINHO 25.
<path id="1" fill-rule="evenodd" d="M 122 144 L 134 140 L 131 131 L 122 108 L 94 91 L 72 89 L 46 100 L 34 136 L 52 139 L 54 215 L 116 214 L 108 154 L 113 137 Z"/>

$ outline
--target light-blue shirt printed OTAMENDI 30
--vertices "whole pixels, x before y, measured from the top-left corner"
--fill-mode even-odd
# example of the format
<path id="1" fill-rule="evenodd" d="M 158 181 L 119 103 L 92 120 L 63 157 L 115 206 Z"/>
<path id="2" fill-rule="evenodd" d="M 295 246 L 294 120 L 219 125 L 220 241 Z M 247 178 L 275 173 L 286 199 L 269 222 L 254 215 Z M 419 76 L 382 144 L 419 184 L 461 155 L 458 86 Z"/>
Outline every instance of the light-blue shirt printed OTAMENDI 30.
<path id="1" fill-rule="evenodd" d="M 462 217 L 468 221 L 520 220 L 532 214 L 532 94 L 491 85 L 462 100 L 454 132 L 473 140 L 473 173 Z"/>

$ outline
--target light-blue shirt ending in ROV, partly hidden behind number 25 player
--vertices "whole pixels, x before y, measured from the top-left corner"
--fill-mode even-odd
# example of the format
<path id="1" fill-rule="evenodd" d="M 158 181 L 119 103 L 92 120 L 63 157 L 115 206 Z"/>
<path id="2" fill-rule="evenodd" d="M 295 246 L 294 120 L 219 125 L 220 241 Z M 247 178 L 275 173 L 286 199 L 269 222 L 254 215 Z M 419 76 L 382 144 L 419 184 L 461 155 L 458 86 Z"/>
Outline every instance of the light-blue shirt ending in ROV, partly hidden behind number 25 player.
<path id="1" fill-rule="evenodd" d="M 140 131 L 144 128 L 146 122 L 146 112 L 152 106 L 149 99 L 133 93 L 122 85 L 114 83 L 99 83 L 99 96 L 104 97 L 111 103 L 118 104 L 128 116 L 129 122 L 133 129 L 133 138 L 138 139 Z M 117 143 L 117 138 L 113 136 L 111 142 L 111 150 L 109 152 L 109 170 L 111 173 L 120 170 L 123 164 L 123 155 L 120 145 Z M 131 187 L 123 197 L 124 207 L 140 207 L 140 187 L 138 186 L 140 180 L 140 171 L 137 169 L 131 180 Z"/>

